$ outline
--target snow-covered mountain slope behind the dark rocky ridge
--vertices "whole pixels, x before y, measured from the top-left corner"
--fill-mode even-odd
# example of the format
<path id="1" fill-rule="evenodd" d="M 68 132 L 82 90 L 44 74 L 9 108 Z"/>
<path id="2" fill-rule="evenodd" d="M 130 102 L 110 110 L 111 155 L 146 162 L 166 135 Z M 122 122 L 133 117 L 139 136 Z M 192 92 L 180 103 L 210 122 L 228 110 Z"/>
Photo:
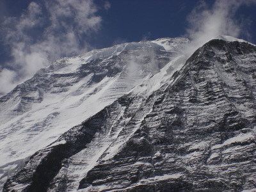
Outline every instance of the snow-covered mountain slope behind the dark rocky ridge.
<path id="1" fill-rule="evenodd" d="M 1 185 L 37 150 L 159 72 L 188 43 L 163 38 L 61 58 L 1 97 Z"/>

